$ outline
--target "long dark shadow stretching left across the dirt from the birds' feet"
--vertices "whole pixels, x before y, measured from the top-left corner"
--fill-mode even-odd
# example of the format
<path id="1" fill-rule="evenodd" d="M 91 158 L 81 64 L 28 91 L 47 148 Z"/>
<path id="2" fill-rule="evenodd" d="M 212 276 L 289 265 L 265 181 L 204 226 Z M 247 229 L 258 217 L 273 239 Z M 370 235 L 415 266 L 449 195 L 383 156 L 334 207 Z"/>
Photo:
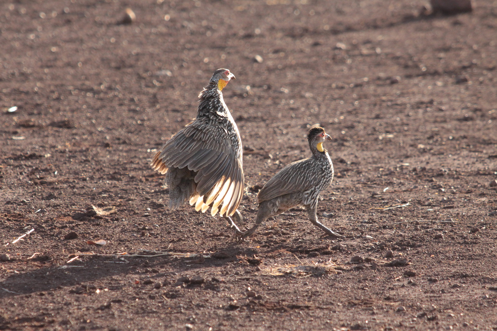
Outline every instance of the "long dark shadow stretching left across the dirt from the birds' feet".
<path id="1" fill-rule="evenodd" d="M 210 254 L 209 258 L 201 259 L 200 261 L 198 255 L 172 258 L 160 255 L 138 258 L 102 256 L 98 254 L 83 255 L 80 256 L 80 260 L 71 265 L 42 266 L 36 270 L 20 273 L 9 270 L 13 271 L 13 273 L 0 282 L 0 299 L 33 293 L 45 295 L 43 292 L 50 292 L 63 287 L 79 286 L 86 288 L 88 283 L 91 284 L 98 282 L 100 279 L 123 274 L 128 274 L 132 278 L 129 281 L 133 284 L 135 282 L 141 284 L 146 279 L 162 282 L 161 280 L 164 278 L 172 279 L 178 274 L 195 272 L 199 268 L 217 268 L 238 262 L 240 259 L 237 256 L 253 257 L 254 250 L 252 248 L 240 248 L 237 243 L 231 243 L 223 249 Z M 121 259 L 124 259 L 125 262 L 120 261 Z M 9 269 L 8 265 L 4 266 Z M 104 284 L 105 287 L 111 286 L 114 289 L 127 285 L 130 284 L 122 282 Z"/>

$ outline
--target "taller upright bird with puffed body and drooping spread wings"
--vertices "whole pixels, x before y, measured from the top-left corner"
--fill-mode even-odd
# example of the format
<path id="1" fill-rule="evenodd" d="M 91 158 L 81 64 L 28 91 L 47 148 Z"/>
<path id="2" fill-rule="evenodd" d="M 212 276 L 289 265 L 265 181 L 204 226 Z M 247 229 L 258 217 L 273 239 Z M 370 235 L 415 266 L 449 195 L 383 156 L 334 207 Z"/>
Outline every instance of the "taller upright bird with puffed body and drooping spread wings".
<path id="1" fill-rule="evenodd" d="M 235 76 L 218 69 L 199 95 L 197 116 L 169 139 L 152 161 L 166 174 L 169 208 L 188 201 L 214 216 L 237 212 L 244 189 L 242 141 L 221 90 Z M 231 218 L 230 218 L 231 221 Z M 231 221 L 232 225 L 234 224 Z"/>

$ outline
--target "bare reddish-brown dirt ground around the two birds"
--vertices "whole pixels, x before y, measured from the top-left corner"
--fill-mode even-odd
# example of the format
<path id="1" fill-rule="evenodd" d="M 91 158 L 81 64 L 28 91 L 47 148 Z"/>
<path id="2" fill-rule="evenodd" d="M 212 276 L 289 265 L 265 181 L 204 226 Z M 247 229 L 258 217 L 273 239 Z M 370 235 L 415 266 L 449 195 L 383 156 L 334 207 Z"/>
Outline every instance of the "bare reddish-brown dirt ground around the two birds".
<path id="1" fill-rule="evenodd" d="M 2 1 L 0 329 L 496 330 L 496 2 L 422 4 Z M 137 22 L 116 24 L 127 6 Z M 219 67 L 249 147 L 246 225 L 253 187 L 320 123 L 336 177 L 319 213 L 345 238 L 292 209 L 238 243 L 167 209 L 151 157 Z"/>

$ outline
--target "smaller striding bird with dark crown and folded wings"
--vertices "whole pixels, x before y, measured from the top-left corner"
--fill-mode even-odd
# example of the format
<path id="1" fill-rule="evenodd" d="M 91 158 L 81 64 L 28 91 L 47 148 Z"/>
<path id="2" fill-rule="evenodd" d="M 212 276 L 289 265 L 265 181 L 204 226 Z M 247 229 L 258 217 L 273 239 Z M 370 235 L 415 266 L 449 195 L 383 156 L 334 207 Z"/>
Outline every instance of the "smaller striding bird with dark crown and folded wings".
<path id="1" fill-rule="evenodd" d="M 250 236 L 267 218 L 296 206 L 305 206 L 309 220 L 328 235 L 342 237 L 321 224 L 316 215 L 319 194 L 333 180 L 333 164 L 328 151 L 323 147 L 323 142 L 327 139 L 331 140 L 331 136 L 323 128 L 309 130 L 307 140 L 312 156 L 288 164 L 260 189 L 255 225 L 245 232 L 236 231 L 238 239 Z"/>

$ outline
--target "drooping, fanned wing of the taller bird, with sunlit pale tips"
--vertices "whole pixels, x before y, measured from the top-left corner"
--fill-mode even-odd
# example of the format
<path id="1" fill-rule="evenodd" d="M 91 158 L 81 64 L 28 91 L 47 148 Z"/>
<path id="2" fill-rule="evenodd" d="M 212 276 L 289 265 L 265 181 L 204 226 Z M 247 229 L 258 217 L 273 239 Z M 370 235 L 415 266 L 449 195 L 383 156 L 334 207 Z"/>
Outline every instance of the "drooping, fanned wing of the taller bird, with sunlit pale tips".
<path id="1" fill-rule="evenodd" d="M 205 211 L 212 204 L 212 215 L 219 206 L 222 215 L 233 215 L 243 196 L 244 173 L 238 134 L 197 119 L 176 133 L 152 161 L 162 174 L 169 167 L 195 171 L 198 195 L 190 199 L 195 209 Z"/>

